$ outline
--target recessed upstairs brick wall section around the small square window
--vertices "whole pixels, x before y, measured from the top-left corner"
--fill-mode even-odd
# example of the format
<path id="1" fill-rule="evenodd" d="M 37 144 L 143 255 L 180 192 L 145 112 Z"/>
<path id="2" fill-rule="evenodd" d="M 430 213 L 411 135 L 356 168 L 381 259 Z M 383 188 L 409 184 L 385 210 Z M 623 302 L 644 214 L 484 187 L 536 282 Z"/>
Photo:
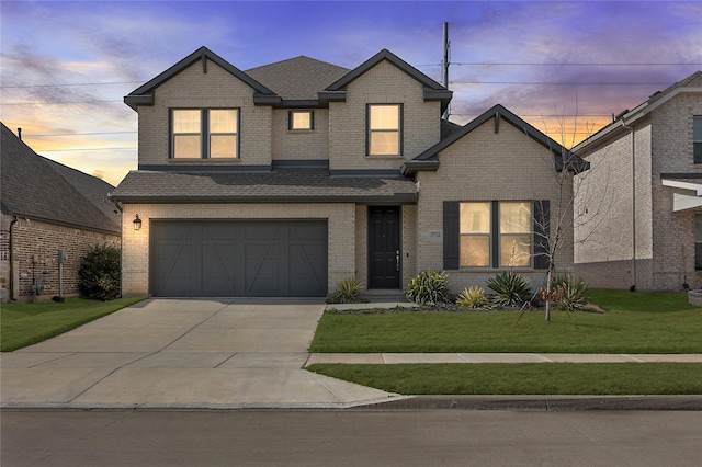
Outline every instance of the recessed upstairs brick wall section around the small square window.
<path id="1" fill-rule="evenodd" d="M 290 130 L 288 113 L 287 109 L 273 110 L 273 160 L 329 159 L 329 110 L 314 110 L 312 130 Z"/>

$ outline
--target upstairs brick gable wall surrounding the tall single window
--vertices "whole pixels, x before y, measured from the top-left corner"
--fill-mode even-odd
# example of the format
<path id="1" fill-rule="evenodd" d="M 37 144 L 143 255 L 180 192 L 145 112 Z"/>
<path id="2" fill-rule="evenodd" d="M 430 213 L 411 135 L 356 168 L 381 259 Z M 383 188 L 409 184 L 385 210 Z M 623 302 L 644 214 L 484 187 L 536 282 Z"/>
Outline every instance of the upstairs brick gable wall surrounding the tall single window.
<path id="1" fill-rule="evenodd" d="M 404 104 L 404 157 L 367 157 L 366 104 Z M 440 138 L 441 105 L 424 102 L 423 88 L 388 61 L 358 78 L 346 102 L 329 104 L 330 168 L 332 170 L 396 169 Z"/>

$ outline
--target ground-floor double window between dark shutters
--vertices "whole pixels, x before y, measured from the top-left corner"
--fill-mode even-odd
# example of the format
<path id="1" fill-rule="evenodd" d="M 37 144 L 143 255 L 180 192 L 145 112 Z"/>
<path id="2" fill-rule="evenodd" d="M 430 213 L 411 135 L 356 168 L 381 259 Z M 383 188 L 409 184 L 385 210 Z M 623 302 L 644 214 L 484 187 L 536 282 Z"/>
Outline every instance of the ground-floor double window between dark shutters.
<path id="1" fill-rule="evenodd" d="M 529 267 L 532 265 L 531 202 L 460 204 L 460 265 Z"/>

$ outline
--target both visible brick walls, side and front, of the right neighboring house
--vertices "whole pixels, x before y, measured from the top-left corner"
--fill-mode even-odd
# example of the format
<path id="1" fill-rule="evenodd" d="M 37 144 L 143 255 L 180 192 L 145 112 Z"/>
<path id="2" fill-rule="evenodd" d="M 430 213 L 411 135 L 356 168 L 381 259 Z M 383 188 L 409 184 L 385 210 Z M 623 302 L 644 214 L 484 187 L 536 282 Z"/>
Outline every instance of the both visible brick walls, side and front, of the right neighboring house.
<path id="1" fill-rule="evenodd" d="M 702 95 L 682 93 L 642 118 L 634 127 L 634 169 L 629 132 L 592 145 L 581 155 L 590 161 L 591 170 L 578 180 L 587 190 L 578 192 L 576 213 L 585 207 L 590 210 L 584 219 L 588 221 L 576 228 L 575 261 L 577 273 L 591 286 L 634 285 L 638 291 L 663 292 L 681 291 L 687 282 L 693 288 L 702 287 L 702 272 L 694 271 L 693 224 L 694 215 L 702 214 L 702 209 L 673 213 L 672 195 L 677 190 L 663 186 L 660 176 L 702 173 L 702 166 L 695 166 L 692 158 L 694 115 L 702 115 Z M 636 173 L 635 196 L 632 172 Z"/>

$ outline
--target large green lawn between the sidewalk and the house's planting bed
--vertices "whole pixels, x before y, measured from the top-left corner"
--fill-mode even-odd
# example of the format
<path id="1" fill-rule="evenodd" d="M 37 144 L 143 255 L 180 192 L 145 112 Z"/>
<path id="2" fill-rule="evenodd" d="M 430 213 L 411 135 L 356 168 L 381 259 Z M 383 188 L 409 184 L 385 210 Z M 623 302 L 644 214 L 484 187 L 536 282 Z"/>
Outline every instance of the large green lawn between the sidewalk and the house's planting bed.
<path id="1" fill-rule="evenodd" d="M 702 308 L 684 293 L 588 295 L 608 312 L 327 312 L 310 352 L 702 353 Z"/>

